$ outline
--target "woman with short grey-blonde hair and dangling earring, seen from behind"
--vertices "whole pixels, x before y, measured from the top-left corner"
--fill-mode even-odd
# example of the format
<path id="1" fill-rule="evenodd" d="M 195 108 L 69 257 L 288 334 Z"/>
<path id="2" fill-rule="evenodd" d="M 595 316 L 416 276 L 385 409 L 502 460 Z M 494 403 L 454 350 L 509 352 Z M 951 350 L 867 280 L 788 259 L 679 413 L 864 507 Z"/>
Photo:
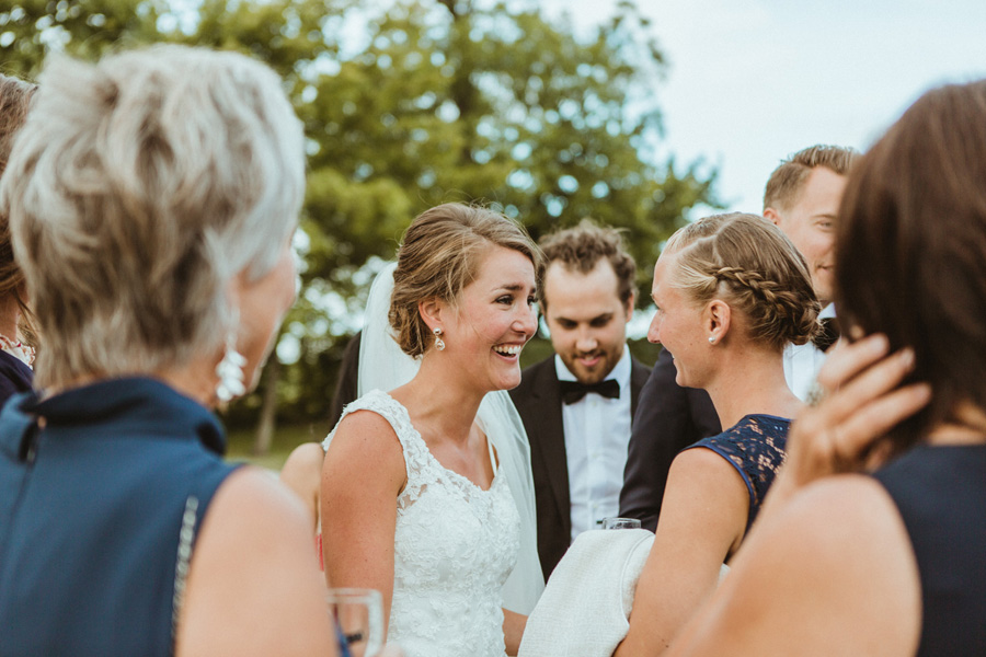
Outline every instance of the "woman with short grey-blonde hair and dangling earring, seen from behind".
<path id="1" fill-rule="evenodd" d="M 46 388 L 0 415 L 4 654 L 334 654 L 297 503 L 209 412 L 294 301 L 303 174 L 242 55 L 46 66 L 0 186 Z"/>

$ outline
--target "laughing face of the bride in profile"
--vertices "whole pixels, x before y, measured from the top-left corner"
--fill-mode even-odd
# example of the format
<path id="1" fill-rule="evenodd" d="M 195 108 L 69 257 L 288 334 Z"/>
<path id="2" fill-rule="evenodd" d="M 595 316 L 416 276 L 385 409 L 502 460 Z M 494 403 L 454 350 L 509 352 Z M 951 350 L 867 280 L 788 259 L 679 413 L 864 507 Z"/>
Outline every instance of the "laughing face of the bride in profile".
<path id="1" fill-rule="evenodd" d="M 446 349 L 484 390 L 520 383 L 520 349 L 537 331 L 535 268 L 513 249 L 491 246 L 475 279 L 459 293 L 443 323 Z"/>

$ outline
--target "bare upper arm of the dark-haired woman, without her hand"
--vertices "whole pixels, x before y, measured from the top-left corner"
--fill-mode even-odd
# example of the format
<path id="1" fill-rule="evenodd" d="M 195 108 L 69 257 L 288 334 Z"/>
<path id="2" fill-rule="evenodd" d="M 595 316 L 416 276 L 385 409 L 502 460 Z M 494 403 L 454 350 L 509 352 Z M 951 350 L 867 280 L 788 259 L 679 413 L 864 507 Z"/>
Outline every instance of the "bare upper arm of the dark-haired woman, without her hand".
<path id="1" fill-rule="evenodd" d="M 910 656 L 920 580 L 904 522 L 874 480 L 809 486 L 757 528 L 672 657 Z"/>

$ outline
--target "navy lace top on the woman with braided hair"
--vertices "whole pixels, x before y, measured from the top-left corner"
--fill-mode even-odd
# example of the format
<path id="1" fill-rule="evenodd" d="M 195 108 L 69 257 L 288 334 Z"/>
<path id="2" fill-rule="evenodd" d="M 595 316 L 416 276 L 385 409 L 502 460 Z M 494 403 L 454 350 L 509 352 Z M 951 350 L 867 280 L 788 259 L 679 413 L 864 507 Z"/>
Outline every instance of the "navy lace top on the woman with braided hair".
<path id="1" fill-rule="evenodd" d="M 702 438 L 691 447 L 704 447 L 736 469 L 749 494 L 746 531 L 760 511 L 767 489 L 784 462 L 784 446 L 791 420 L 773 415 L 746 415 L 718 436 Z"/>

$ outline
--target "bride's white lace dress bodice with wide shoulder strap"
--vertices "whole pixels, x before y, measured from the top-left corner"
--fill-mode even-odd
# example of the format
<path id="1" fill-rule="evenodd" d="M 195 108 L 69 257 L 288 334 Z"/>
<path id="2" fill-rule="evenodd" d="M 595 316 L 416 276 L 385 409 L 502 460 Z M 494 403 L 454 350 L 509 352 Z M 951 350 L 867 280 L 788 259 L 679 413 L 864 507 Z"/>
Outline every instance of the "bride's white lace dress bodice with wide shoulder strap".
<path id="1" fill-rule="evenodd" d="M 365 394 L 343 417 L 364 410 L 393 427 L 408 471 L 397 499 L 387 641 L 408 657 L 502 657 L 501 589 L 517 560 L 520 523 L 506 477 L 497 470 L 483 491 L 444 468 L 387 393 Z"/>

